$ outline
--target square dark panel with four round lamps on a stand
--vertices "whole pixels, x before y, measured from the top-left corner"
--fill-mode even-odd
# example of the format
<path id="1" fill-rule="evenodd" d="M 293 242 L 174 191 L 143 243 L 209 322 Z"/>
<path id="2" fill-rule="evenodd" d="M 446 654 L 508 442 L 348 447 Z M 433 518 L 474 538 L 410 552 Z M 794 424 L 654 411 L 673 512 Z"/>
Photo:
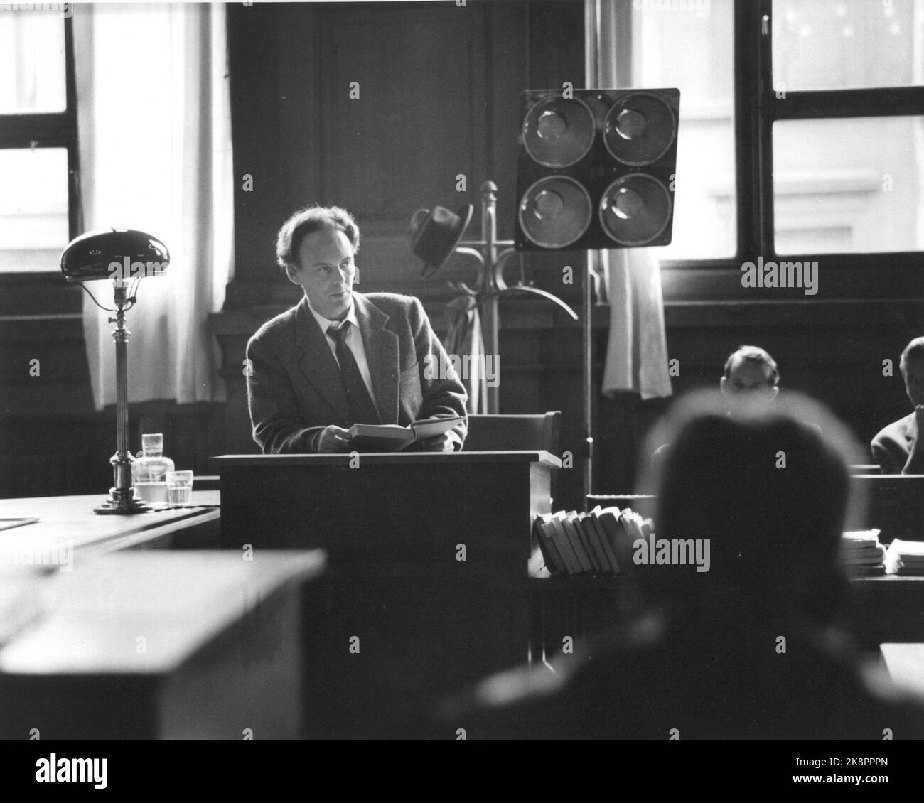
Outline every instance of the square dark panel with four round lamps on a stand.
<path id="1" fill-rule="evenodd" d="M 669 244 L 679 110 L 675 89 L 525 91 L 517 249 Z"/>

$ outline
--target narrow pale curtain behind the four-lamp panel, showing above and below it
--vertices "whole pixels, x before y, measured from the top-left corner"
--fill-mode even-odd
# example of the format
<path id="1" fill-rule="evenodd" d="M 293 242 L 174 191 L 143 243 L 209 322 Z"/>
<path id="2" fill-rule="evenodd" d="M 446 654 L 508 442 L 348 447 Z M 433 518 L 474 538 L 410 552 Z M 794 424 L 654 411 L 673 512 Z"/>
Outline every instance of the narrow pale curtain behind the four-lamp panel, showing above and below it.
<path id="1" fill-rule="evenodd" d="M 616 58 L 618 26 L 631 14 L 631 6 L 624 3 L 617 8 L 615 0 L 585 0 L 585 10 L 588 88 L 631 88 L 631 76 L 617 75 Z M 628 43 L 629 37 L 622 37 L 621 46 Z M 596 257 L 610 303 L 602 383 L 606 395 L 631 391 L 648 399 L 672 394 L 656 254 L 656 249 L 620 249 Z"/>

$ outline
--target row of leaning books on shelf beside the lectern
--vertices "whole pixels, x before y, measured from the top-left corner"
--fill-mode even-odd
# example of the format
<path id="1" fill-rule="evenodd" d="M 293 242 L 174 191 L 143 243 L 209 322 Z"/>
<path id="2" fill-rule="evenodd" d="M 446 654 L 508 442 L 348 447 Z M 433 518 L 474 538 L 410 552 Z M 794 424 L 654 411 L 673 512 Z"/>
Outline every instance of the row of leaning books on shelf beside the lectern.
<path id="1" fill-rule="evenodd" d="M 631 572 L 634 544 L 651 531 L 630 508 L 600 505 L 590 513 L 547 513 L 533 529 L 550 574 L 604 576 Z"/>

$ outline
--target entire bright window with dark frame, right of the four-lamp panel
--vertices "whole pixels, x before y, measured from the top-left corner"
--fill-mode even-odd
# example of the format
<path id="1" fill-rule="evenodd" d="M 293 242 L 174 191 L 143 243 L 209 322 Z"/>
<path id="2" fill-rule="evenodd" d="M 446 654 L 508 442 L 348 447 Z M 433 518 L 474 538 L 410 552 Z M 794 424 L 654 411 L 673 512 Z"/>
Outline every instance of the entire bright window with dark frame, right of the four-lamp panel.
<path id="1" fill-rule="evenodd" d="M 924 0 L 626 6 L 631 85 L 681 92 L 663 261 L 919 264 Z"/>

